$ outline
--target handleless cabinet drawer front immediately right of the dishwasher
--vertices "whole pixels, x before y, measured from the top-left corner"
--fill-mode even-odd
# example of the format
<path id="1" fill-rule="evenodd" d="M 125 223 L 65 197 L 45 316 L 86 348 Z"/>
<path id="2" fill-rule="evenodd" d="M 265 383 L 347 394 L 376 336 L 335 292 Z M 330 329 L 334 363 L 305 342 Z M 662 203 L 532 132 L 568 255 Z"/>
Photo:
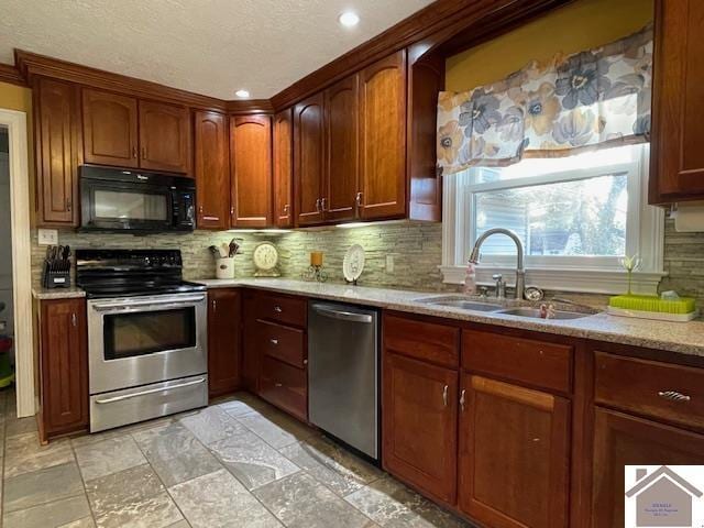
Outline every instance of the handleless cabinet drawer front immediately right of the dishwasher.
<path id="1" fill-rule="evenodd" d="M 460 330 L 446 324 L 384 316 L 384 348 L 418 360 L 457 369 L 460 356 Z"/>

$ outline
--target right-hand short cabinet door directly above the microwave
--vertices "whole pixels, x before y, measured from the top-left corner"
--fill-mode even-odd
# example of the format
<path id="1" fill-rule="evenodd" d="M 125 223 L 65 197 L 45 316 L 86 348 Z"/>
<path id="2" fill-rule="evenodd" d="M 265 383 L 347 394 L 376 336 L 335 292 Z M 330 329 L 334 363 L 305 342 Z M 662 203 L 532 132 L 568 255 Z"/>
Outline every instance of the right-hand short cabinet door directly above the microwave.
<path id="1" fill-rule="evenodd" d="M 190 173 L 190 113 L 186 107 L 140 101 L 140 167 Z"/>

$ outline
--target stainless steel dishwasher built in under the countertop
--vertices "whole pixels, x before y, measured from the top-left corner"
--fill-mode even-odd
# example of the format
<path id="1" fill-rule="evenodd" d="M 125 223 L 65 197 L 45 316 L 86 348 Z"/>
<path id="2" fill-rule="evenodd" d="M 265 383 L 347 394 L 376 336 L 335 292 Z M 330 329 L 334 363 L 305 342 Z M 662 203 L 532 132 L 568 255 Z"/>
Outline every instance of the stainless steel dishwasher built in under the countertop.
<path id="1" fill-rule="evenodd" d="M 378 460 L 378 311 L 308 305 L 308 419 Z"/>

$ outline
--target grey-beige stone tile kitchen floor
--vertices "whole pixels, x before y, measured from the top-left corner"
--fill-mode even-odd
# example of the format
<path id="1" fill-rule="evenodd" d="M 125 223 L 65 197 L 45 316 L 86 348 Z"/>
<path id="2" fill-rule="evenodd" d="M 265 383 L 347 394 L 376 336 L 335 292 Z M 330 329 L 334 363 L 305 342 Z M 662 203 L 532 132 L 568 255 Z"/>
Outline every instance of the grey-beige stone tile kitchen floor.
<path id="1" fill-rule="evenodd" d="M 0 417 L 3 528 L 469 526 L 248 394 L 46 447 Z"/>

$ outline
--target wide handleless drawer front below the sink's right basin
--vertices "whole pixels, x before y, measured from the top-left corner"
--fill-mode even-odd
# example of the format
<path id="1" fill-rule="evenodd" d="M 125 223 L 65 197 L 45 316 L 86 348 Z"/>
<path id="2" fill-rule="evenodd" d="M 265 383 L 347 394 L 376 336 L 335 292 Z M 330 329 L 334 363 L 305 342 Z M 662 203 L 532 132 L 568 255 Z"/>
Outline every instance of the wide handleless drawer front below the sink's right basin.
<path id="1" fill-rule="evenodd" d="M 464 330 L 462 367 L 569 393 L 572 386 L 572 346 Z"/>

